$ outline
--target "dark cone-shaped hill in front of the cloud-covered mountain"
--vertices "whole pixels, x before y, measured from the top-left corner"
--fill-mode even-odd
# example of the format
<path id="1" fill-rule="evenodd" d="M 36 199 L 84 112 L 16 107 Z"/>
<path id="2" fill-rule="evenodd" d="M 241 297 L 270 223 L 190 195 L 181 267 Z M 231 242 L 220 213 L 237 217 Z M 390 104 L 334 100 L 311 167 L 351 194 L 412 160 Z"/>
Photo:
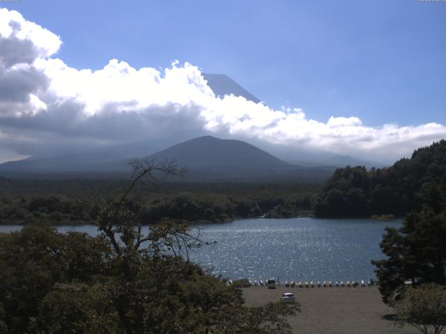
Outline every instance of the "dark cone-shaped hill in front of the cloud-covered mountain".
<path id="1" fill-rule="evenodd" d="M 186 166 L 190 180 L 323 180 L 331 170 L 300 168 L 243 141 L 203 136 L 152 154 Z"/>

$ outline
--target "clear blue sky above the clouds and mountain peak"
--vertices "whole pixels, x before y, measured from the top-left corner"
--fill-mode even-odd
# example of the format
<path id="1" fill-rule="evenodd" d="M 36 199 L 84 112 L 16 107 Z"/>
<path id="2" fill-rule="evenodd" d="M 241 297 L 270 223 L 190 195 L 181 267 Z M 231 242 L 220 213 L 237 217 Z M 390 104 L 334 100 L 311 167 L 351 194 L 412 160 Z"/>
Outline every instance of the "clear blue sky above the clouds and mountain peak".
<path id="1" fill-rule="evenodd" d="M 30 1 L 1 3 L 61 36 L 77 68 L 175 59 L 224 73 L 273 107 L 325 122 L 446 122 L 446 2 Z"/>

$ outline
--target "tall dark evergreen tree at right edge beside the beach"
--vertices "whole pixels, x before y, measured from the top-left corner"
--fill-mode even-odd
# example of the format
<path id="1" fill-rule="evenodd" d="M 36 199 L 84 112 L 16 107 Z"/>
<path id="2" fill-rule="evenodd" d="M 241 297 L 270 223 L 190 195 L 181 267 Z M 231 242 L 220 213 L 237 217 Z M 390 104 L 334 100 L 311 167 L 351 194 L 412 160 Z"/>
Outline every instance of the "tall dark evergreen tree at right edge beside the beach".
<path id="1" fill-rule="evenodd" d="M 424 207 L 406 216 L 399 229 L 387 228 L 380 243 L 384 260 L 372 261 L 377 267 L 383 301 L 391 304 L 401 298 L 404 282 L 413 285 L 446 285 L 446 214 Z"/>

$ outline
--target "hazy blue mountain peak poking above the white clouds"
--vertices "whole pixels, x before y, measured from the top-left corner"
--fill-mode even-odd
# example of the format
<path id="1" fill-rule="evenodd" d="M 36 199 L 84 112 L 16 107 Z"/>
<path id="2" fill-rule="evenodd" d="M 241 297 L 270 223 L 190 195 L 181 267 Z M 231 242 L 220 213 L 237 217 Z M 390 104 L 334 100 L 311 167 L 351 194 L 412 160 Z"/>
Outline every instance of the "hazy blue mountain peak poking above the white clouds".
<path id="1" fill-rule="evenodd" d="M 243 96 L 246 100 L 255 103 L 261 102 L 257 97 L 249 93 L 245 88 L 233 81 L 225 74 L 208 74 L 202 73 L 204 79 L 208 81 L 208 86 L 215 95 L 224 97 L 224 95 Z"/>

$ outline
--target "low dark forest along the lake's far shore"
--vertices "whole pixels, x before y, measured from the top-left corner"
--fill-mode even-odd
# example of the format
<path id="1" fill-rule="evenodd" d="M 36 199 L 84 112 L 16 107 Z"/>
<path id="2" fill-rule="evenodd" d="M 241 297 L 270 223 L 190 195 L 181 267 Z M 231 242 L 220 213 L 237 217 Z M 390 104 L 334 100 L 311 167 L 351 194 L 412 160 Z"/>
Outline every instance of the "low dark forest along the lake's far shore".
<path id="1" fill-rule="evenodd" d="M 92 223 L 95 208 L 101 204 L 99 199 L 116 196 L 123 188 L 123 183 L 116 180 L 97 183 L 3 179 L 1 182 L 6 187 L 17 185 L 21 189 L 15 189 L 13 195 L 7 195 L 5 189 L 0 191 L 1 224 L 38 219 L 52 224 Z M 52 191 L 45 193 L 45 189 Z M 283 188 L 281 184 L 197 184 L 197 188 L 191 184 L 141 184 L 127 204 L 142 221 L 174 218 L 224 222 L 263 214 L 288 218 L 302 212 L 308 214 L 314 189 L 316 186 L 305 184 L 283 185 Z"/>

